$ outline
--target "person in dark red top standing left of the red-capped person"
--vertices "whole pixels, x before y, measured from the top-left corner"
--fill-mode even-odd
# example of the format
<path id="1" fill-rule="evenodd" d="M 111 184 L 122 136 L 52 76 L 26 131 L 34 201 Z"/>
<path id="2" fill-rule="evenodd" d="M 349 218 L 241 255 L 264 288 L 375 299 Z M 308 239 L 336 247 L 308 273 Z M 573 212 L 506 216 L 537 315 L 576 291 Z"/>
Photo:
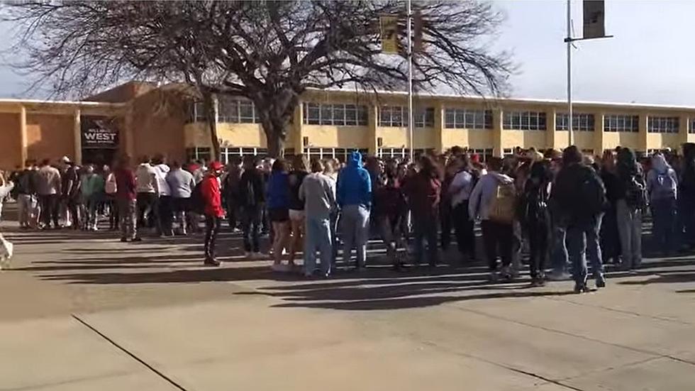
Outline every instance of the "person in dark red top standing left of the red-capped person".
<path id="1" fill-rule="evenodd" d="M 130 158 L 122 156 L 116 160 L 113 168 L 113 177 L 116 179 L 116 205 L 118 216 L 121 218 L 121 241 L 142 241 L 138 236 L 137 216 L 137 183 L 135 174 L 130 170 Z"/>

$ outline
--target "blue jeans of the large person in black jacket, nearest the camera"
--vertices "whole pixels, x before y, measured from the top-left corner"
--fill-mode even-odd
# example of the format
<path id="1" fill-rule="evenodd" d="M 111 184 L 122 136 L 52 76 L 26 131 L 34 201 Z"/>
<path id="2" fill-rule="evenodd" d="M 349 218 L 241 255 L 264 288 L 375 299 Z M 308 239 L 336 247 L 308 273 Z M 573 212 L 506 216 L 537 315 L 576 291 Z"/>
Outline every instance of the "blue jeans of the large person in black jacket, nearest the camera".
<path id="1" fill-rule="evenodd" d="M 570 224 L 567 227 L 567 252 L 572 263 L 572 276 L 577 285 L 586 284 L 586 258 L 591 262 L 594 277 L 603 276 L 604 265 L 601 263 L 601 247 L 599 246 L 599 231 L 601 231 L 599 214 L 589 221 Z"/>

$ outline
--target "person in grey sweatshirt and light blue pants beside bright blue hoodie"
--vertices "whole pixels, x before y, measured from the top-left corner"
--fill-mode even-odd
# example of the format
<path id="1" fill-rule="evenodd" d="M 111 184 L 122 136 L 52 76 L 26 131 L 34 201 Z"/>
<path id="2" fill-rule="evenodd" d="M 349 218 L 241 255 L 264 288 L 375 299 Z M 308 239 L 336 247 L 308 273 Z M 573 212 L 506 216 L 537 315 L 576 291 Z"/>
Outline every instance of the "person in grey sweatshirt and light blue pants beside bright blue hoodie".
<path id="1" fill-rule="evenodd" d="M 330 238 L 330 213 L 335 209 L 335 182 L 323 174 L 320 160 L 311 162 L 311 174 L 299 186 L 299 198 L 304 201 L 306 237 L 304 243 L 304 276 L 316 270 L 316 250 L 321 254 L 321 275 L 328 277 L 333 263 Z"/>

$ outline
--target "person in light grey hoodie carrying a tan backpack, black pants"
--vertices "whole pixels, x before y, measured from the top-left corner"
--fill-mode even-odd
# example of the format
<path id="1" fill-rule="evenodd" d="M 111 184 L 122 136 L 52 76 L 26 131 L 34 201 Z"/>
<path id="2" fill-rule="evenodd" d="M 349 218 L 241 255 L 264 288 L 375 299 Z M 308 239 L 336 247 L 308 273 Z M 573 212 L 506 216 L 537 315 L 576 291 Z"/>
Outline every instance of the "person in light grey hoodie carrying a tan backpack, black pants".
<path id="1" fill-rule="evenodd" d="M 512 277 L 513 221 L 516 213 L 516 189 L 514 180 L 500 172 L 502 160 L 491 158 L 489 172 L 480 177 L 469 198 L 468 214 L 472 220 L 480 219 L 483 231 L 485 255 L 490 280 Z M 497 272 L 497 255 L 502 260 L 501 272 Z"/>

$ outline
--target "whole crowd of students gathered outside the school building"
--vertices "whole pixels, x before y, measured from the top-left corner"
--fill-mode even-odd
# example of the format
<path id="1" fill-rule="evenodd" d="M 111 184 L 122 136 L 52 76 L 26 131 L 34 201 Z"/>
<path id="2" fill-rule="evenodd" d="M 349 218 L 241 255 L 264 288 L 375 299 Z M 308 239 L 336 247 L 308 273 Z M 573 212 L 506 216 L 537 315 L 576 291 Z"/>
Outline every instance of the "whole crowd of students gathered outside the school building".
<path id="1" fill-rule="evenodd" d="M 516 277 L 528 253 L 533 285 L 571 272 L 576 292 L 588 289 L 587 260 L 596 287 L 605 286 L 604 263 L 638 268 L 645 212 L 652 216 L 655 248 L 695 248 L 691 143 L 682 155 L 656 153 L 641 162 L 630 148 L 594 160 L 574 146 L 532 148 L 484 163 L 457 147 L 417 163 L 355 152 L 346 164 L 296 155 L 291 164 L 245 157 L 226 167 L 182 167 L 157 156 L 141 159 L 134 170 L 127 157 L 97 170 L 62 158 L 55 167 L 29 161 L 10 180 L 0 179 L 0 189 L 13 186 L 22 228 L 57 228 L 62 216 L 63 226 L 96 230 L 103 215 L 125 242 L 141 240 L 138 228 L 186 235 L 198 231 L 204 217 L 204 263 L 219 265 L 216 238 L 226 216 L 229 227 L 242 232 L 249 258 L 266 257 L 260 253 L 265 232 L 273 270 L 299 270 L 295 261 L 303 253 L 306 276 L 329 275 L 339 249 L 346 267 L 354 259 L 355 268 L 364 268 L 369 238 L 383 241 L 395 269 L 436 265 L 452 231 L 460 262 L 472 263 L 479 256 L 477 222 L 490 280 Z"/>

